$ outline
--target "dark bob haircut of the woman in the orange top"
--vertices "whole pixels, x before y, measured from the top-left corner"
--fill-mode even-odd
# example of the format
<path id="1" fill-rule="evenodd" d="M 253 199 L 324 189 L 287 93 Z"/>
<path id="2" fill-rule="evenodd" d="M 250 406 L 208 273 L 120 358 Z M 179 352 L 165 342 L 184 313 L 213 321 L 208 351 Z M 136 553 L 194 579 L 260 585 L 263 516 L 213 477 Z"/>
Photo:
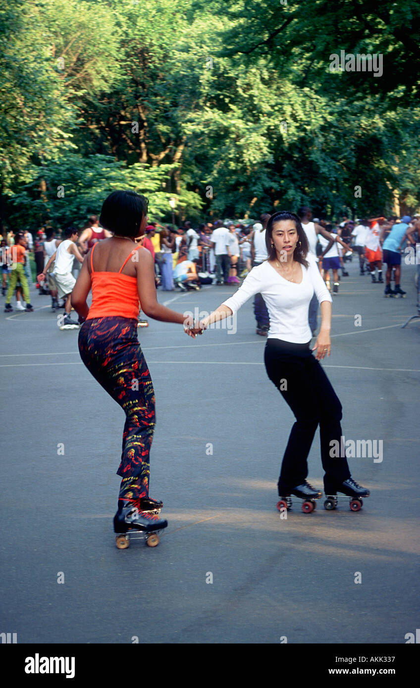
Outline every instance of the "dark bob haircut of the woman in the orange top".
<path id="1" fill-rule="evenodd" d="M 103 202 L 101 225 L 120 237 L 138 237 L 149 201 L 136 191 L 113 191 Z"/>

